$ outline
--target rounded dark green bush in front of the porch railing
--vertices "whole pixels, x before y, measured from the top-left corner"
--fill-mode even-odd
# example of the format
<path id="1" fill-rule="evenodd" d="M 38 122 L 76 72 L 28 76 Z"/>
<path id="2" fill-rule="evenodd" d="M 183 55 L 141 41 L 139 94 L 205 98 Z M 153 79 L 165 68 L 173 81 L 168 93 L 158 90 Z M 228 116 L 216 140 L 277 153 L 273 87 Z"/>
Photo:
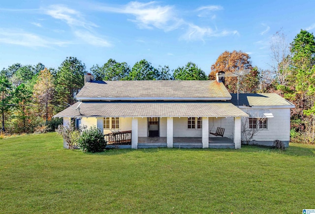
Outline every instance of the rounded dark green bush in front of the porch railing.
<path id="1" fill-rule="evenodd" d="M 79 138 L 78 147 L 83 152 L 102 152 L 106 148 L 106 141 L 102 130 L 95 126 L 84 130 Z"/>

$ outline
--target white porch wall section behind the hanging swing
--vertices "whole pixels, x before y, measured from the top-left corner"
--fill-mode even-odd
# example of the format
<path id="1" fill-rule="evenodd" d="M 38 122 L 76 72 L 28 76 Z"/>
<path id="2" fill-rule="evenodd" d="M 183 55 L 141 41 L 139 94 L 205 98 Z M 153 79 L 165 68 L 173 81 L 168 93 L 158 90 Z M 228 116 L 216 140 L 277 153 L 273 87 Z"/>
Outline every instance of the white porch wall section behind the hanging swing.
<path id="1" fill-rule="evenodd" d="M 209 117 L 209 131 L 212 133 L 215 133 L 217 131 L 217 128 L 221 127 L 224 130 L 224 137 L 233 139 L 234 138 L 234 117 L 222 117 L 221 119 L 218 118 L 210 118 Z M 209 137 L 221 137 L 221 136 L 215 136 L 213 134 L 209 134 Z"/>

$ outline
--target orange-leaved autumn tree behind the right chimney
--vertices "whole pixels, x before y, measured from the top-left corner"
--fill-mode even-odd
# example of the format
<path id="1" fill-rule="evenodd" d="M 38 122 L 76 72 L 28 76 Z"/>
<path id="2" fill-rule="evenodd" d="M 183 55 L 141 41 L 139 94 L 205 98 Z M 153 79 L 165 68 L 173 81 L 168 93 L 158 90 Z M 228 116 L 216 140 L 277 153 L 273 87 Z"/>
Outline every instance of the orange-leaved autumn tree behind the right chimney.
<path id="1" fill-rule="evenodd" d="M 252 69 L 252 62 L 250 61 L 250 55 L 242 51 L 233 51 L 223 52 L 217 59 L 217 61 L 211 66 L 211 72 L 209 74 L 209 80 L 215 80 L 216 74 L 220 71 L 225 72 L 226 74 L 235 71 L 241 71 L 244 69 Z M 251 82 L 245 84 L 245 82 Z M 244 82 L 244 84 L 243 84 Z M 259 77 L 257 70 L 252 70 L 249 75 L 240 77 L 239 91 L 243 93 L 253 93 L 257 90 L 259 84 Z M 237 92 L 237 78 L 235 77 L 226 77 L 225 85 L 230 93 Z"/>

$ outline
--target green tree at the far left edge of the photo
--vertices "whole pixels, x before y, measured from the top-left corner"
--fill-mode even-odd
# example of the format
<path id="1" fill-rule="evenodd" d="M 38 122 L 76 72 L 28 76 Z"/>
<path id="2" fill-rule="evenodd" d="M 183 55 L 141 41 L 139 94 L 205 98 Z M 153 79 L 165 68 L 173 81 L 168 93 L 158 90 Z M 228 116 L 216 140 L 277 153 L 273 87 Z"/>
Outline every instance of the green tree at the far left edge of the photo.
<path id="1" fill-rule="evenodd" d="M 12 85 L 8 78 L 4 75 L 0 75 L 0 110 L 2 115 L 2 128 L 1 131 L 5 132 L 4 120 L 5 113 L 8 112 L 11 106 L 9 101 L 11 100 L 11 89 Z"/>

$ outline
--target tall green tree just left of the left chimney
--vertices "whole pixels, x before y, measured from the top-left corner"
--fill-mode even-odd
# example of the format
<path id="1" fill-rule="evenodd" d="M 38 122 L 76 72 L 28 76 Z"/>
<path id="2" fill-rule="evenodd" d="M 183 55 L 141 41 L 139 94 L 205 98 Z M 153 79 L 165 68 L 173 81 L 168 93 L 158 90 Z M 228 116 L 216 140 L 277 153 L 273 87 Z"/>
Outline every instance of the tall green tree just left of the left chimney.
<path id="1" fill-rule="evenodd" d="M 75 95 L 84 86 L 85 64 L 76 57 L 66 57 L 56 74 L 56 99 L 60 105 L 76 102 Z"/>

